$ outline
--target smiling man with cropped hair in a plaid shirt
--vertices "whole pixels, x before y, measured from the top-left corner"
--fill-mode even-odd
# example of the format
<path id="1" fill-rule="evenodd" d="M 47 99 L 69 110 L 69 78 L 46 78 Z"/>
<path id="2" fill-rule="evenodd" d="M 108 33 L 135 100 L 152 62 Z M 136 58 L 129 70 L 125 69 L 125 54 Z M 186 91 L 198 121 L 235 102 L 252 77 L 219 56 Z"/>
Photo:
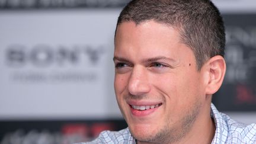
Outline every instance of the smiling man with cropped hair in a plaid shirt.
<path id="1" fill-rule="evenodd" d="M 211 104 L 226 71 L 223 20 L 211 1 L 131 1 L 114 45 L 114 88 L 129 127 L 91 143 L 256 143 L 255 124 Z"/>

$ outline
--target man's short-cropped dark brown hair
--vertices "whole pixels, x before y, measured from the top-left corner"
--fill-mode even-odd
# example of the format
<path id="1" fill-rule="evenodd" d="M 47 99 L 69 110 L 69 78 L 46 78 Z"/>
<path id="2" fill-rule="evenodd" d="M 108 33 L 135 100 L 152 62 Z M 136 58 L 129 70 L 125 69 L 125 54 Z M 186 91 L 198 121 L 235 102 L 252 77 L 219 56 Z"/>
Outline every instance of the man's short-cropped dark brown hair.
<path id="1" fill-rule="evenodd" d="M 181 42 L 194 52 L 198 70 L 210 57 L 224 57 L 225 27 L 210 0 L 133 0 L 121 11 L 117 26 L 148 20 L 178 28 Z"/>

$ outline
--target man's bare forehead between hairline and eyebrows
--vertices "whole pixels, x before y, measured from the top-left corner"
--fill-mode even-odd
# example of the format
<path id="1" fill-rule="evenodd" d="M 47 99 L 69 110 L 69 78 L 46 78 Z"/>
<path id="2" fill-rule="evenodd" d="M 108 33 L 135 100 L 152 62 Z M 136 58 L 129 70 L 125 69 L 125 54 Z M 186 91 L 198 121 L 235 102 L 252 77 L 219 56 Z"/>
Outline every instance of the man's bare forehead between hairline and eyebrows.
<path id="1" fill-rule="evenodd" d="M 178 28 L 170 25 L 145 21 L 140 24 L 123 22 L 117 26 L 115 37 L 115 56 L 144 57 L 171 56 L 180 57 L 191 51 L 180 42 Z M 180 54 L 180 55 L 178 55 Z"/>

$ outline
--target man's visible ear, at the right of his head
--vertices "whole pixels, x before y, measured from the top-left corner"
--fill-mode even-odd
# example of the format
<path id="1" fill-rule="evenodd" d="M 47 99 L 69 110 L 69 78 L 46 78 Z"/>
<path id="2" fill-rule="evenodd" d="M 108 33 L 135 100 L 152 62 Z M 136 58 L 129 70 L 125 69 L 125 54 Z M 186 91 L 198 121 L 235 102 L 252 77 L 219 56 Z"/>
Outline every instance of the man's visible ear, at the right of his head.
<path id="1" fill-rule="evenodd" d="M 207 84 L 206 95 L 212 95 L 219 90 L 222 85 L 225 72 L 226 62 L 222 56 L 214 56 L 206 63 Z"/>

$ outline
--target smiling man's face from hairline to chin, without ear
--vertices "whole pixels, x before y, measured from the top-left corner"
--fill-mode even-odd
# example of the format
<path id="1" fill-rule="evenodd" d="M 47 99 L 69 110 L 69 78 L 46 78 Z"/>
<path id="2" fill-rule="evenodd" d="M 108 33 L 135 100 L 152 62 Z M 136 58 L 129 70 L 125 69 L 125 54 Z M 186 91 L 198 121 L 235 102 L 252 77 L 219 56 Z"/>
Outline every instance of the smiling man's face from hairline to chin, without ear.
<path id="1" fill-rule="evenodd" d="M 117 102 L 137 140 L 175 141 L 190 130 L 205 100 L 205 82 L 178 30 L 154 21 L 121 23 L 114 63 Z"/>

